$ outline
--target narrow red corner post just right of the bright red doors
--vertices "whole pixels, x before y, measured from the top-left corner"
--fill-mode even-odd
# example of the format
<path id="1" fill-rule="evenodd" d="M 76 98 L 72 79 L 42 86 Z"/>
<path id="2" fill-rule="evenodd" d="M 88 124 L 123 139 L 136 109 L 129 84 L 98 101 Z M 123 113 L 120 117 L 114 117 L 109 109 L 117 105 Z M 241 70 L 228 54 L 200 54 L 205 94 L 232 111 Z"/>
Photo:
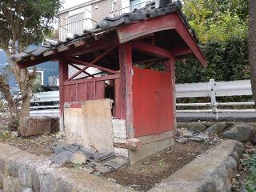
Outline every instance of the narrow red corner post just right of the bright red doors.
<path id="1" fill-rule="evenodd" d="M 176 129 L 176 96 L 175 96 L 175 62 L 176 58 L 169 58 L 165 62 L 166 73 L 171 75 L 171 86 L 173 89 L 173 114 L 174 114 L 174 129 Z"/>

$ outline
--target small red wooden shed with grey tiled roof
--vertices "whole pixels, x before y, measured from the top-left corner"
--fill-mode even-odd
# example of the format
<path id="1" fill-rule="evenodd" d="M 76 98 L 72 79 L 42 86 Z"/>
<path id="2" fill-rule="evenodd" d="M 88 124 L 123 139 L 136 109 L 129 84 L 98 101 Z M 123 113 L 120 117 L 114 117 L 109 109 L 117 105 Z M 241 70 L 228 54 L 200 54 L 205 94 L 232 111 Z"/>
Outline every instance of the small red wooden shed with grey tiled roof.
<path id="1" fill-rule="evenodd" d="M 62 121 L 66 102 L 112 99 L 112 116 L 125 121 L 126 139 L 141 142 L 141 151 L 130 150 L 139 156 L 137 161 L 173 142 L 174 63 L 188 56 L 206 66 L 179 2 L 157 1 L 130 14 L 105 18 L 96 29 L 66 42 L 13 58 L 22 69 L 58 60 Z M 70 66 L 77 71 L 70 74 Z M 88 72 L 90 68 L 97 73 Z"/>

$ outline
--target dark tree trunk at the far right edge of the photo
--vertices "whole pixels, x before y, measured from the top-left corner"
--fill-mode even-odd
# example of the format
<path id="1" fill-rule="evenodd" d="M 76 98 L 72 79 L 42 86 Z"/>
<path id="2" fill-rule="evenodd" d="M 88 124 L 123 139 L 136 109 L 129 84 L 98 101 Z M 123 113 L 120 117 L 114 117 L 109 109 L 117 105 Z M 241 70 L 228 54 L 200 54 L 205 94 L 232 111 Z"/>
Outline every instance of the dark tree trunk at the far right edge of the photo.
<path id="1" fill-rule="evenodd" d="M 251 89 L 256 102 L 256 0 L 250 0 L 249 5 L 249 62 Z"/>

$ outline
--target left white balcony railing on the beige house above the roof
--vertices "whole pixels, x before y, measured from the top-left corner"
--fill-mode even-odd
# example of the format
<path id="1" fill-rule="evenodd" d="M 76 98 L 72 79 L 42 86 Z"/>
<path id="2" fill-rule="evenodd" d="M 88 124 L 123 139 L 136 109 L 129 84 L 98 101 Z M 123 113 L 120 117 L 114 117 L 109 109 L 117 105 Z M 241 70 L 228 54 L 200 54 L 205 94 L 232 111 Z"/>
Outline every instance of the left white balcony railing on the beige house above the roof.
<path id="1" fill-rule="evenodd" d="M 65 41 L 66 38 L 73 38 L 74 34 L 82 34 L 83 30 L 92 30 L 97 22 L 91 18 L 84 18 L 76 22 L 69 22 L 62 26 L 58 26 L 58 38 Z"/>

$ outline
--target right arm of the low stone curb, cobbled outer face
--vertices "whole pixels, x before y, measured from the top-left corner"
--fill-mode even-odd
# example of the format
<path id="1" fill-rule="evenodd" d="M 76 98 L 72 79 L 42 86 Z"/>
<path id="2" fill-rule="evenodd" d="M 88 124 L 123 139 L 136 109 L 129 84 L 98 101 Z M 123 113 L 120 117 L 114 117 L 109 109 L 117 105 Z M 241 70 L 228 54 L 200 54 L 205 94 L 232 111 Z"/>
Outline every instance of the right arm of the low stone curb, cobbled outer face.
<path id="1" fill-rule="evenodd" d="M 223 140 L 154 186 L 150 192 L 230 192 L 230 180 L 238 166 L 232 156 L 241 146 L 237 141 Z"/>

